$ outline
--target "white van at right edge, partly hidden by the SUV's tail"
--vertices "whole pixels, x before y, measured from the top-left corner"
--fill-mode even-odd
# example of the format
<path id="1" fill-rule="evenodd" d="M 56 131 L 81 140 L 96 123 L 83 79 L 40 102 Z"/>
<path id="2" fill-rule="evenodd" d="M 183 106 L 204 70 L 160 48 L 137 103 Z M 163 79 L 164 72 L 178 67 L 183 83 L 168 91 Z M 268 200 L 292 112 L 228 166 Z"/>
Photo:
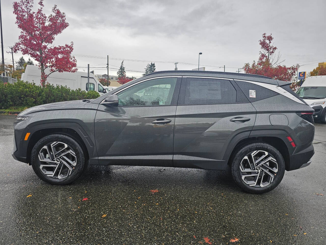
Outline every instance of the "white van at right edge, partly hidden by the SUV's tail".
<path id="1" fill-rule="evenodd" d="M 326 76 L 308 76 L 296 92 L 314 110 L 314 119 L 326 123 Z"/>

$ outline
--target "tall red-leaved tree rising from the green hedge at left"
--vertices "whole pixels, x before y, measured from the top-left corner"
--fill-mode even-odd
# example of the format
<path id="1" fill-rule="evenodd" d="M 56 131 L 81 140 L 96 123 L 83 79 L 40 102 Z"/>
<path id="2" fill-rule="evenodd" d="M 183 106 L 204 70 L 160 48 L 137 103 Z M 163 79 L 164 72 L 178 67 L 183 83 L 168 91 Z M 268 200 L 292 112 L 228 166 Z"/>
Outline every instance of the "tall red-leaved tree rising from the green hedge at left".
<path id="1" fill-rule="evenodd" d="M 53 72 L 76 72 L 77 61 L 71 56 L 73 42 L 64 46 L 53 45 L 55 36 L 69 25 L 65 13 L 54 5 L 52 14 L 46 16 L 43 13 L 43 0 L 38 2 L 40 7 L 37 12 L 32 11 L 33 3 L 33 0 L 13 3 L 16 24 L 22 30 L 13 49 L 21 51 L 23 55 L 30 55 L 39 63 L 41 85 L 44 86 L 47 77 Z M 45 74 L 45 69 L 49 69 L 48 74 Z"/>

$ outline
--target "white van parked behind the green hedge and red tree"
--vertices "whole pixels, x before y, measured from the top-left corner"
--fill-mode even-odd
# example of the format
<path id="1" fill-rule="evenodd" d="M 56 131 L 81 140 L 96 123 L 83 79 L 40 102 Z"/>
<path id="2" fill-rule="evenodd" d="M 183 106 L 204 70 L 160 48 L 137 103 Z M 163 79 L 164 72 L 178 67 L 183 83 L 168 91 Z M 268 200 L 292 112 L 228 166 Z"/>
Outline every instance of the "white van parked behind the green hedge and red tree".
<path id="1" fill-rule="evenodd" d="M 49 73 L 49 70 L 45 70 L 45 73 Z M 22 74 L 22 81 L 41 84 L 41 69 L 38 66 L 27 65 L 25 72 Z M 48 76 L 46 81 L 50 84 L 67 86 L 68 88 L 75 90 L 88 90 L 87 86 L 87 72 L 54 72 Z M 93 73 L 89 74 L 89 88 L 99 92 L 100 95 L 106 93 L 106 89 L 99 83 Z"/>

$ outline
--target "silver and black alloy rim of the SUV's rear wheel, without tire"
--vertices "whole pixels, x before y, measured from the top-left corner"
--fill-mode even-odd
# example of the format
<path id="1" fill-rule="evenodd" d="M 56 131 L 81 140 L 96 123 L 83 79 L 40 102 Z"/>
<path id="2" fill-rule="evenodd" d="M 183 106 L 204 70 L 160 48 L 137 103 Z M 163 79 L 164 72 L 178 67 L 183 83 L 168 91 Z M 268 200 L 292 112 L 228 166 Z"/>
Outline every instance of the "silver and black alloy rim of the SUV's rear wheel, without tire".
<path id="1" fill-rule="evenodd" d="M 253 151 L 244 156 L 240 163 L 240 175 L 251 187 L 266 187 L 276 177 L 278 165 L 273 155 L 266 151 Z"/>

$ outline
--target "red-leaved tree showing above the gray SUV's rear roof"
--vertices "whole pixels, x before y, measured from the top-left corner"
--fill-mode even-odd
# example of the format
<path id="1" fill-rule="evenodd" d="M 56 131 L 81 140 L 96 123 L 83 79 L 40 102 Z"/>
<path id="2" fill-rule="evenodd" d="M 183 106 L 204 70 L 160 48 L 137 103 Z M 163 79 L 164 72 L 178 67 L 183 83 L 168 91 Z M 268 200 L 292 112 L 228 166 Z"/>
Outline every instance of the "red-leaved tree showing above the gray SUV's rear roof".
<path id="1" fill-rule="evenodd" d="M 262 37 L 263 38 L 259 40 L 261 51 L 259 51 L 258 62 L 256 63 L 253 61 L 252 65 L 249 63 L 244 64 L 244 72 L 264 75 L 281 81 L 289 81 L 292 82 L 291 86 L 295 87 L 296 73 L 300 66 L 298 64 L 290 67 L 280 65 L 284 60 L 280 60 L 280 53 L 275 53 L 277 48 L 273 46 L 272 41 L 274 38 L 272 34 L 266 36 L 266 33 L 264 33 Z"/>

